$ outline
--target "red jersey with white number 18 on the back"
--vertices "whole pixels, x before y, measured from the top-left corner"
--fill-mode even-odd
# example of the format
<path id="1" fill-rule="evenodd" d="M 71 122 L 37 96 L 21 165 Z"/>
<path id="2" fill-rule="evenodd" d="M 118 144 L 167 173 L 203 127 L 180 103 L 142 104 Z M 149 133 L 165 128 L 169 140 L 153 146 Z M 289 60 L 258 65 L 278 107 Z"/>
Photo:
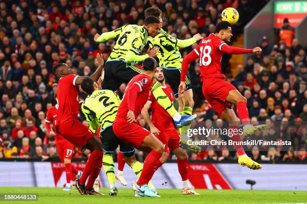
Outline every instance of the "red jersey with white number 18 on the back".
<path id="1" fill-rule="evenodd" d="M 225 78 L 221 73 L 221 60 L 223 52 L 221 47 L 226 44 L 214 33 L 201 40 L 198 46 L 194 49 L 199 58 L 200 77 L 203 78 Z"/>

